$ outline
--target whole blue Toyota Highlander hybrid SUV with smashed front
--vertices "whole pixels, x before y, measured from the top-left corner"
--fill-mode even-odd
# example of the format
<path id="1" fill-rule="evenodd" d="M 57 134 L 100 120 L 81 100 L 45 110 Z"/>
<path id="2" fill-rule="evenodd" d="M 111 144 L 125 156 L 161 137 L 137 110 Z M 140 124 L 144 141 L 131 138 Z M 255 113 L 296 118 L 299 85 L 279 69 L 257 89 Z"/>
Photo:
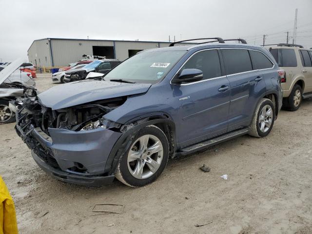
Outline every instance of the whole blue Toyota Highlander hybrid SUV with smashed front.
<path id="1" fill-rule="evenodd" d="M 98 80 L 55 86 L 18 106 L 16 131 L 58 180 L 101 185 L 116 177 L 132 187 L 154 181 L 169 157 L 244 134 L 265 137 L 284 73 L 269 51 L 239 40 L 172 43 Z"/>

